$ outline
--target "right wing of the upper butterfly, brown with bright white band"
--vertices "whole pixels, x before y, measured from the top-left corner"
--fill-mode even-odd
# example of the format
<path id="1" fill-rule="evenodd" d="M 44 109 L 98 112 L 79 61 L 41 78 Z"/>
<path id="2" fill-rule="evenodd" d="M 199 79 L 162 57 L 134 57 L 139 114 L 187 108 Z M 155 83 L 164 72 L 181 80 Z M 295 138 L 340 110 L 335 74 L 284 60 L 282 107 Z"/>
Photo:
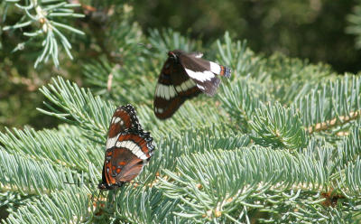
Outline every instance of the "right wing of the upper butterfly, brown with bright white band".
<path id="1" fill-rule="evenodd" d="M 214 96 L 220 79 L 216 75 L 230 77 L 231 70 L 212 61 L 195 57 L 193 54 L 181 53 L 180 64 L 197 87 L 208 96 Z"/>

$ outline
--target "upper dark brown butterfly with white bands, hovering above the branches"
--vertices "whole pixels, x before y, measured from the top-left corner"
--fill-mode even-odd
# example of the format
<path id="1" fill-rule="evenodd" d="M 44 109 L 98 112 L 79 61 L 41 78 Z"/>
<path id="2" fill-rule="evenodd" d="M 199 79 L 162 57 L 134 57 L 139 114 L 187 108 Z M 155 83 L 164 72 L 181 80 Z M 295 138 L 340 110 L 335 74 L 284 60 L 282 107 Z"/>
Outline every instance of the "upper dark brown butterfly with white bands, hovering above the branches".
<path id="1" fill-rule="evenodd" d="M 174 50 L 168 56 L 154 94 L 154 114 L 160 119 L 171 117 L 186 99 L 201 92 L 213 96 L 220 83 L 216 75 L 231 75 L 229 68 L 201 59 L 202 53 Z"/>

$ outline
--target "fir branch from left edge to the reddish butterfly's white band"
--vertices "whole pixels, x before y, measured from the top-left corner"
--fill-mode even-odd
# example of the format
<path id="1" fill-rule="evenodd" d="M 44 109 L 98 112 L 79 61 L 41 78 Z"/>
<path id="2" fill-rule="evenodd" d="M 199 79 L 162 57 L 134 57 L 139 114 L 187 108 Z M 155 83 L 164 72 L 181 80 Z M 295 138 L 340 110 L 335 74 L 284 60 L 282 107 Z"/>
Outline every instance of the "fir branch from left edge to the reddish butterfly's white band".
<path id="1" fill-rule="evenodd" d="M 67 127 L 68 131 L 72 128 Z M 61 166 L 88 172 L 88 163 L 97 163 L 100 167 L 103 151 L 99 145 L 89 145 L 81 135 L 61 135 L 59 130 L 34 131 L 14 129 L 0 133 L 0 143 L 8 153 L 32 155 L 33 159 L 43 162 L 57 163 Z M 96 149 L 94 149 L 96 148 Z"/>

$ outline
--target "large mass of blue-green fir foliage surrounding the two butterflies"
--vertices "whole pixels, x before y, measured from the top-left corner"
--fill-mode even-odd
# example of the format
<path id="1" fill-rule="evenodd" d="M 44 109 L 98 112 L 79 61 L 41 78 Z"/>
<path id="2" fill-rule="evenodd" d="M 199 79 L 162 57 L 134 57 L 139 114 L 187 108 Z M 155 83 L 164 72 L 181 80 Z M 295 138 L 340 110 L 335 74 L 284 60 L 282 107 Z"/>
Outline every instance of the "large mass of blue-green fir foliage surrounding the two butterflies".
<path id="1" fill-rule="evenodd" d="M 359 75 L 264 57 L 228 33 L 205 51 L 169 29 L 144 36 L 134 23 L 118 25 L 107 34 L 122 64 L 84 64 L 89 89 L 61 77 L 40 89 L 47 100 L 38 110 L 67 124 L 0 133 L 3 223 L 361 221 Z M 188 100 L 161 121 L 153 92 L 175 48 L 205 51 L 233 74 L 215 98 Z M 127 103 L 155 154 L 133 183 L 98 195 L 110 117 Z"/>

